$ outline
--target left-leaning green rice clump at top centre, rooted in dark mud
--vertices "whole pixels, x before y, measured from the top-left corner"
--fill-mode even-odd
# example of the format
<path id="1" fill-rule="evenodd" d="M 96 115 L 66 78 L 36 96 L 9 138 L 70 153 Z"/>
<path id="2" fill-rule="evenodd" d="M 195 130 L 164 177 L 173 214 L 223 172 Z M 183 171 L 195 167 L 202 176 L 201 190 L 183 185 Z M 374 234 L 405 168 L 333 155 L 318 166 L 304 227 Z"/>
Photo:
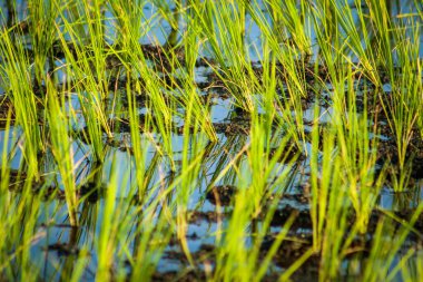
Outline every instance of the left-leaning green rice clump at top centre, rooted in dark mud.
<path id="1" fill-rule="evenodd" d="M 257 81 L 245 46 L 246 6 L 236 1 L 205 1 L 193 4 L 190 9 L 196 18 L 194 22 L 201 27 L 207 39 L 209 51 L 219 62 L 216 75 L 234 96 L 235 107 L 249 113 L 254 110 L 255 93 L 252 89 Z"/>

